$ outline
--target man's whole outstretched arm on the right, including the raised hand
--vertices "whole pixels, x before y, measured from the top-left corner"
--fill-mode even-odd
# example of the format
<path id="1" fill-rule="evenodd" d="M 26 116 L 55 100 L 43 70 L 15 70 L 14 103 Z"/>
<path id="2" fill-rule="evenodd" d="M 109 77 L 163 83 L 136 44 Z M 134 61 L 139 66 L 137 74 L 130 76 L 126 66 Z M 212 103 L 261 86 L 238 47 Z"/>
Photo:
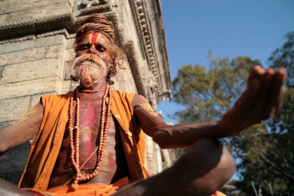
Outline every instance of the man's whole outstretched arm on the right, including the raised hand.
<path id="1" fill-rule="evenodd" d="M 287 77 L 284 69 L 263 70 L 255 66 L 249 76 L 247 89 L 234 107 L 221 120 L 209 123 L 177 124 L 170 126 L 153 112 L 146 98 L 133 99 L 135 115 L 144 132 L 162 148 L 189 147 L 203 138 L 236 135 L 254 123 L 276 113 L 285 96 L 283 85 Z"/>

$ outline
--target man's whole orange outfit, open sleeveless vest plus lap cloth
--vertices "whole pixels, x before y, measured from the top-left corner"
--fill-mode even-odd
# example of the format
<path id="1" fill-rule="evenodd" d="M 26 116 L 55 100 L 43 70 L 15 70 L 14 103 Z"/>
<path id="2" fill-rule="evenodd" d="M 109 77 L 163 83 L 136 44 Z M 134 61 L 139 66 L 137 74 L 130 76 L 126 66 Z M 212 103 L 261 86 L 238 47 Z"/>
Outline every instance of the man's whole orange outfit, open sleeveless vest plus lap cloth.
<path id="1" fill-rule="evenodd" d="M 109 196 L 129 182 L 123 178 L 112 185 L 84 184 L 78 188 L 83 194 L 71 192 L 68 186 L 47 190 L 49 179 L 62 144 L 64 131 L 69 119 L 68 108 L 73 92 L 65 95 L 51 95 L 41 98 L 44 117 L 40 130 L 31 145 L 25 170 L 19 187 L 44 196 L 45 191 L 53 195 L 103 195 Z M 112 91 L 111 112 L 120 125 L 120 134 L 131 182 L 149 177 L 145 167 L 145 134 L 133 115 L 132 100 L 135 94 Z M 76 102 L 73 102 L 73 108 Z M 130 134 L 131 133 L 131 134 Z M 93 188 L 93 189 L 89 189 Z M 85 192 L 87 190 L 87 192 Z M 90 193 L 91 192 L 91 193 Z M 215 196 L 220 192 L 216 192 Z"/>

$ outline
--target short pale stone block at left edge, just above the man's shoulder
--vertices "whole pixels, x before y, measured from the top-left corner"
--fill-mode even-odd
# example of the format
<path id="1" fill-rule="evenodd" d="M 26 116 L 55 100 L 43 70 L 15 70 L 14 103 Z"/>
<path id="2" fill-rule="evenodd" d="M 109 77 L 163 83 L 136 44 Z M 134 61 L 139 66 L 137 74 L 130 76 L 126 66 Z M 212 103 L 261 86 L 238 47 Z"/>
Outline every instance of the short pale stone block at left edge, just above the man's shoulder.
<path id="1" fill-rule="evenodd" d="M 29 100 L 29 96 L 0 100 L 0 122 L 12 121 L 25 115 L 28 112 Z"/>

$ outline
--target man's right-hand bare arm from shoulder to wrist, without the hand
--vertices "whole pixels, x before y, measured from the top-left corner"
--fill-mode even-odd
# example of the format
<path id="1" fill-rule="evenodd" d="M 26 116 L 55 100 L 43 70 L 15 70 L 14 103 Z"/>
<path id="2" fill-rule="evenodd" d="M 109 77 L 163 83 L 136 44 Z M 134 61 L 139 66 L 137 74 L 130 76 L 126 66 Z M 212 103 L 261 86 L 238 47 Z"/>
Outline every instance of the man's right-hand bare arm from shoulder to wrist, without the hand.
<path id="1" fill-rule="evenodd" d="M 147 99 L 133 99 L 135 115 L 143 131 L 161 148 L 189 147 L 202 138 L 213 138 L 219 122 L 168 125 L 153 110 Z"/>

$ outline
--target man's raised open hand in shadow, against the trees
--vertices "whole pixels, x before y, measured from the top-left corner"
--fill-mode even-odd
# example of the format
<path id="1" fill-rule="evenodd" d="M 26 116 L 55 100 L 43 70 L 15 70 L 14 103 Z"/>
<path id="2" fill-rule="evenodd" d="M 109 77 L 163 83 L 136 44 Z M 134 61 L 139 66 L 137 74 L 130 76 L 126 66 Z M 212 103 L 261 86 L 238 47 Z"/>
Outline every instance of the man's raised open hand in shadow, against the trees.
<path id="1" fill-rule="evenodd" d="M 234 107 L 221 119 L 223 136 L 239 133 L 254 123 L 266 120 L 277 113 L 283 104 L 286 93 L 284 85 L 287 71 L 276 71 L 254 66 L 248 78 L 247 89 Z"/>

